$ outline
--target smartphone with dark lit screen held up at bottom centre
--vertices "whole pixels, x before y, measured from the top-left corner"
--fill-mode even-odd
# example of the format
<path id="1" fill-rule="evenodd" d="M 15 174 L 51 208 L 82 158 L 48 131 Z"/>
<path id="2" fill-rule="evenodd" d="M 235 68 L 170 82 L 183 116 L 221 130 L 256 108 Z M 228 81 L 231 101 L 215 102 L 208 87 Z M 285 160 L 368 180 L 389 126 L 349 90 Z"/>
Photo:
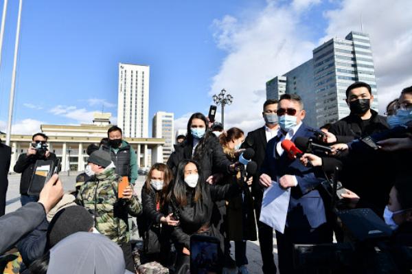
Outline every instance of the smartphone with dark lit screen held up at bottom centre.
<path id="1" fill-rule="evenodd" d="M 190 237 L 190 274 L 221 273 L 219 249 L 218 238 L 192 235 Z"/>

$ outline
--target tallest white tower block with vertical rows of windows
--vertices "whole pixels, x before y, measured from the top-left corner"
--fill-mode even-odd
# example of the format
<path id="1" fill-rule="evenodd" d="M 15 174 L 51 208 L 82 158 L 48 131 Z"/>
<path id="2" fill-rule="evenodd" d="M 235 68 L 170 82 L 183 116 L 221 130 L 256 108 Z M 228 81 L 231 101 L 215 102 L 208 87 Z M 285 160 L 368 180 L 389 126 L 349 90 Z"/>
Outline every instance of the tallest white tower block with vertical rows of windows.
<path id="1" fill-rule="evenodd" d="M 117 126 L 124 137 L 148 137 L 150 67 L 119 63 Z"/>

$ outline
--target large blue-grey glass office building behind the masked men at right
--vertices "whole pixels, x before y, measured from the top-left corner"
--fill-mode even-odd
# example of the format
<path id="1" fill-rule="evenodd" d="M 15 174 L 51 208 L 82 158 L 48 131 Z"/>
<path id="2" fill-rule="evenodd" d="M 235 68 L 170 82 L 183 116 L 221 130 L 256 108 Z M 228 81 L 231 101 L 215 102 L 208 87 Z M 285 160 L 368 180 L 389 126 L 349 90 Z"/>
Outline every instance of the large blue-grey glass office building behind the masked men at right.
<path id="1" fill-rule="evenodd" d="M 349 115 L 345 91 L 355 81 L 367 82 L 371 86 L 374 95 L 371 107 L 378 109 L 374 60 L 368 34 L 350 32 L 345 38 L 332 38 L 313 49 L 312 59 L 284 76 L 286 93 L 297 93 L 304 100 L 305 121 L 310 126 L 319 128 Z M 268 95 L 267 87 L 268 83 Z M 276 98 L 279 94 L 271 96 Z"/>

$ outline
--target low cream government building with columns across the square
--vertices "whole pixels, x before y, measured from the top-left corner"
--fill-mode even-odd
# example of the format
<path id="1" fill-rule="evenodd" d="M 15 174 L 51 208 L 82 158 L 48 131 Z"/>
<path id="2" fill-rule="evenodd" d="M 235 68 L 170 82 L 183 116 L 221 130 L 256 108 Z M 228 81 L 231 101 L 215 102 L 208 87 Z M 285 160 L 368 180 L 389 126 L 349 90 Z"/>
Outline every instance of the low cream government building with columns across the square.
<path id="1" fill-rule="evenodd" d="M 86 150 L 90 144 L 99 144 L 102 138 L 107 137 L 111 113 L 95 113 L 93 124 L 69 125 L 41 125 L 39 132 L 49 137 L 48 149 L 54 152 L 61 161 L 62 171 L 83 171 L 87 165 Z M 5 135 L 0 135 L 5 139 Z M 137 154 L 139 170 L 148 170 L 153 163 L 163 163 L 163 138 L 135 138 L 124 137 Z M 19 155 L 26 153 L 32 143 L 32 135 L 11 135 L 12 159 L 10 171 Z"/>

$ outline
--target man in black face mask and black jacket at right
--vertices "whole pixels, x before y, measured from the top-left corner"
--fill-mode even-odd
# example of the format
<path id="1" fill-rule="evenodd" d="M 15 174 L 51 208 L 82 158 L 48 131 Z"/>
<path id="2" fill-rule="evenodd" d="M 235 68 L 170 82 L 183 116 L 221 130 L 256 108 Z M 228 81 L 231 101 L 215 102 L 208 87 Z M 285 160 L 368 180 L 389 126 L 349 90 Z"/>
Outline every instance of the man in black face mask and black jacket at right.
<path id="1" fill-rule="evenodd" d="M 386 117 L 370 109 L 374 95 L 365 82 L 354 82 L 346 89 L 346 102 L 350 115 L 339 120 L 329 130 L 328 142 L 349 143 L 389 129 Z M 391 189 L 389 163 L 384 152 L 377 151 L 374 157 L 350 157 L 345 161 L 341 181 L 344 187 L 365 198 L 378 216 L 382 216 Z"/>

